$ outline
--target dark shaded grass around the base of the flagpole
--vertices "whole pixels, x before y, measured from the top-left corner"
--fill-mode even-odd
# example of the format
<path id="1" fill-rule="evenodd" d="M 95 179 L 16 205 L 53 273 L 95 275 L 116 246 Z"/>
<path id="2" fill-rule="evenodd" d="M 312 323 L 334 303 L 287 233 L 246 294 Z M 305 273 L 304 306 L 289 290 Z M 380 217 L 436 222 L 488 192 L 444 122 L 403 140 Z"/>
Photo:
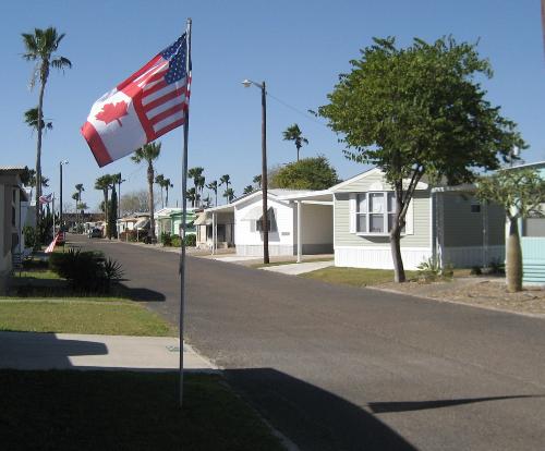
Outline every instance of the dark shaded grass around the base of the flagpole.
<path id="1" fill-rule="evenodd" d="M 1 370 L 5 450 L 281 450 L 215 375 Z"/>

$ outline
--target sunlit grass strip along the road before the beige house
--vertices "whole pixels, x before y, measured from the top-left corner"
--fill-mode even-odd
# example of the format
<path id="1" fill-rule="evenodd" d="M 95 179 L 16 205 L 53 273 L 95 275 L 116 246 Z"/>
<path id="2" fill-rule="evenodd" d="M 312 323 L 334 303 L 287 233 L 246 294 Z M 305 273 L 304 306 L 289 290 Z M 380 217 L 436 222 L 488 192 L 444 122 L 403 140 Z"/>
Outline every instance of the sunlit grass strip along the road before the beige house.
<path id="1" fill-rule="evenodd" d="M 408 279 L 416 277 L 417 271 L 405 271 Z M 316 271 L 301 275 L 307 279 L 322 280 L 323 282 L 351 285 L 351 287 L 373 287 L 376 284 L 391 282 L 393 270 L 391 269 L 367 269 L 367 268 L 341 268 L 330 266 Z"/>

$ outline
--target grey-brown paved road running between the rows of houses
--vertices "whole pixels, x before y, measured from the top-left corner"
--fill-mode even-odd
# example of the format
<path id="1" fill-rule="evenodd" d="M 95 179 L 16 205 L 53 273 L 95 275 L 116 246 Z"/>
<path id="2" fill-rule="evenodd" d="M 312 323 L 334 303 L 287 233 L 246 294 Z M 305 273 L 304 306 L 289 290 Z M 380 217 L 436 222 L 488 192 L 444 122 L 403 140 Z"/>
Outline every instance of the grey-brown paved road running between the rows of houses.
<path id="1" fill-rule="evenodd" d="M 177 321 L 175 254 L 90 243 Z M 189 341 L 301 449 L 545 448 L 543 319 L 199 258 L 187 276 Z"/>

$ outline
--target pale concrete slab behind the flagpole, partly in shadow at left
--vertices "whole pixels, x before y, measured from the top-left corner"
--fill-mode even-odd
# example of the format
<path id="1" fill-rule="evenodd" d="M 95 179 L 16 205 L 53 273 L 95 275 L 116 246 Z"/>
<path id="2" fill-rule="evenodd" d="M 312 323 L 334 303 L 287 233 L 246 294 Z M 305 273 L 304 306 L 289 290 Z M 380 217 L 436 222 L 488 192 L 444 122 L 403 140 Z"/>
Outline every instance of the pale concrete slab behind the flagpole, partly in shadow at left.
<path id="1" fill-rule="evenodd" d="M 183 356 L 187 370 L 217 369 L 187 344 Z M 0 368 L 165 371 L 178 369 L 179 358 L 173 337 L 0 332 Z"/>

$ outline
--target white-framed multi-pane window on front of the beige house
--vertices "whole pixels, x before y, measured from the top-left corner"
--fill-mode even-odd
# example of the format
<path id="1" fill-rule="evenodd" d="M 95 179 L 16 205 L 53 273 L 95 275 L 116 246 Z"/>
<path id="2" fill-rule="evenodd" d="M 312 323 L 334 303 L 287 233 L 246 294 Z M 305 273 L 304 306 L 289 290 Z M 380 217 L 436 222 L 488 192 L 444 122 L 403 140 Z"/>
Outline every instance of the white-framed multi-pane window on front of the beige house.
<path id="1" fill-rule="evenodd" d="M 396 217 L 396 194 L 392 192 L 362 193 L 356 198 L 356 233 L 387 234 Z M 401 231 L 404 232 L 404 228 Z"/>

